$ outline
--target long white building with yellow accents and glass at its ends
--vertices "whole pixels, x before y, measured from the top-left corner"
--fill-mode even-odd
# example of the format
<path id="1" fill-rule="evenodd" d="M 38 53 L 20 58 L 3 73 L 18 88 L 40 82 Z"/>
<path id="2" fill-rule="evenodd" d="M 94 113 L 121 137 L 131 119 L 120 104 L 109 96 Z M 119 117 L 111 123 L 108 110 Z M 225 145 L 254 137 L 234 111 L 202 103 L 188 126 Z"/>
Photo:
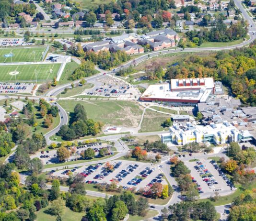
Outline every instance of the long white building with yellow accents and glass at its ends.
<path id="1" fill-rule="evenodd" d="M 165 144 L 185 145 L 193 142 L 226 144 L 252 140 L 252 135 L 248 131 L 239 131 L 229 122 L 210 123 L 207 126 L 195 125 L 191 122 L 186 124 L 174 123 L 169 130 L 169 134 L 162 134 L 162 142 Z"/>

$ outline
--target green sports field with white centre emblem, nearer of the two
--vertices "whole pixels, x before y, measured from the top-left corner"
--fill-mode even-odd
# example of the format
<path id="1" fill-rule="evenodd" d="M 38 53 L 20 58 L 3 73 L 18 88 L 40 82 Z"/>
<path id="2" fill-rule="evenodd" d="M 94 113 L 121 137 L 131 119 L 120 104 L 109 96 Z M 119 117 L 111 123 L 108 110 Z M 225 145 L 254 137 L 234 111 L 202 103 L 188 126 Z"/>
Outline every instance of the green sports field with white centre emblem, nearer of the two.
<path id="1" fill-rule="evenodd" d="M 57 76 L 60 65 L 61 64 L 0 66 L 0 82 L 15 82 L 15 80 L 35 81 L 35 72 L 37 81 L 51 81 L 53 77 Z M 16 74 L 14 72 L 16 72 Z"/>

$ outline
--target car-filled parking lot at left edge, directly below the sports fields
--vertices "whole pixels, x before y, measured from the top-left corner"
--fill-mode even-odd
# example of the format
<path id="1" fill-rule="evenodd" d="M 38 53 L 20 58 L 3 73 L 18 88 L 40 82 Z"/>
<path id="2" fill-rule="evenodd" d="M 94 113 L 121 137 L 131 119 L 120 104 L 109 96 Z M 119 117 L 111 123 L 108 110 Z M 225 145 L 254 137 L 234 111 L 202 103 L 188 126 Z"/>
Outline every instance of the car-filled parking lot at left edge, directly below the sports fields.
<path id="1" fill-rule="evenodd" d="M 31 93 L 34 83 L 0 83 L 0 93 Z"/>

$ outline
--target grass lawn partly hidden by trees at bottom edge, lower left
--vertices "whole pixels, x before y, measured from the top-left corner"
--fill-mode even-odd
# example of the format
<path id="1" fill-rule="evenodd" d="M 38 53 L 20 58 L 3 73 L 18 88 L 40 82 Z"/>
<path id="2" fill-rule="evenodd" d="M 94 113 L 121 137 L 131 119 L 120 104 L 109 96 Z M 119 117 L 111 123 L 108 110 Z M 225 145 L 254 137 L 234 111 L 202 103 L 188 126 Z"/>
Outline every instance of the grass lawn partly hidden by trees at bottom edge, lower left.
<path id="1" fill-rule="evenodd" d="M 47 209 L 49 208 L 50 206 L 47 206 L 46 208 L 36 212 L 36 215 L 37 215 L 36 221 L 56 220 L 55 216 L 48 214 Z M 61 216 L 61 218 L 62 218 L 62 221 L 80 221 L 84 215 L 85 215 L 85 212 L 74 212 L 70 210 L 68 207 L 65 207 L 64 213 Z"/>

